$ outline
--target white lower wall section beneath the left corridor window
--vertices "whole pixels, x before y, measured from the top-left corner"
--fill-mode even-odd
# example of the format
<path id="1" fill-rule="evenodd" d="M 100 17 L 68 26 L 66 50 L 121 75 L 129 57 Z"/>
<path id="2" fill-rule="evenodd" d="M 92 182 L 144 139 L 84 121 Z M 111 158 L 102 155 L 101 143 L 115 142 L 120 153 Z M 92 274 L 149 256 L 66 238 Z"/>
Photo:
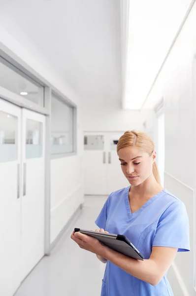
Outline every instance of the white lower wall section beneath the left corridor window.
<path id="1" fill-rule="evenodd" d="M 51 243 L 83 203 L 82 156 L 51 161 Z"/>

